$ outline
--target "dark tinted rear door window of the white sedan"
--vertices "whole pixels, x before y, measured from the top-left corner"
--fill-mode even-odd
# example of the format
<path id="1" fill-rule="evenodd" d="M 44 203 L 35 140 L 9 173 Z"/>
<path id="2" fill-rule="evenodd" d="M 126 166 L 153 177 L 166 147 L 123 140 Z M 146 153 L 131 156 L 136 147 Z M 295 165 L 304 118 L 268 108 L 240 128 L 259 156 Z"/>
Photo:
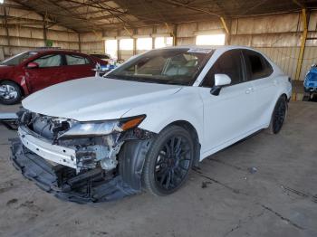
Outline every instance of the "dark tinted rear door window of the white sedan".
<path id="1" fill-rule="evenodd" d="M 265 78 L 273 73 L 271 64 L 260 53 L 250 50 L 243 52 L 249 81 Z"/>

